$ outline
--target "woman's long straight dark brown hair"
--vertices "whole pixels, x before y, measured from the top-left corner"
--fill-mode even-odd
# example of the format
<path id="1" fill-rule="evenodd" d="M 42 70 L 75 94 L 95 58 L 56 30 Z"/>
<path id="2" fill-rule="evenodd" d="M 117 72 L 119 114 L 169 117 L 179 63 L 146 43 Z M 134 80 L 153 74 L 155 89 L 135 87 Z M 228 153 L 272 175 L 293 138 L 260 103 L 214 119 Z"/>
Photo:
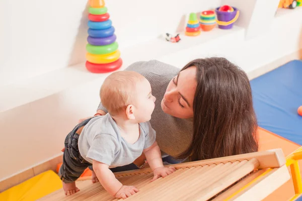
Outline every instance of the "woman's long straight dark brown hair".
<path id="1" fill-rule="evenodd" d="M 190 161 L 258 151 L 257 119 L 247 74 L 225 58 L 189 62 L 196 66 L 193 140 L 178 158 Z"/>

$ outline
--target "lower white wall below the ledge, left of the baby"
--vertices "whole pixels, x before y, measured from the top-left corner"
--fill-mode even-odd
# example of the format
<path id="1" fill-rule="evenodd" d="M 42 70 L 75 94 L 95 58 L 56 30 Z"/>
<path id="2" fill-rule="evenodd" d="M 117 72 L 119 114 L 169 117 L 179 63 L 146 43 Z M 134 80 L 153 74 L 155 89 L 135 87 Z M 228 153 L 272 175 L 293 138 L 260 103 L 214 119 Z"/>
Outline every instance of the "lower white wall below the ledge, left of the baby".
<path id="1" fill-rule="evenodd" d="M 100 83 L 87 82 L 0 113 L 0 181 L 61 154 L 70 129 L 95 114 Z"/>

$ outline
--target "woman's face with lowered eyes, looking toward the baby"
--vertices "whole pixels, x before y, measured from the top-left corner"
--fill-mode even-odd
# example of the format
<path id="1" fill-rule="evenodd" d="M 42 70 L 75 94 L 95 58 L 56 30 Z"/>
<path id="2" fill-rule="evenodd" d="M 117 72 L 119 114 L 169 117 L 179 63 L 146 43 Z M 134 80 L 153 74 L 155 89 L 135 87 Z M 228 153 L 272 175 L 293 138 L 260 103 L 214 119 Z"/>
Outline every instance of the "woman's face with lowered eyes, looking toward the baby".
<path id="1" fill-rule="evenodd" d="M 196 86 L 195 66 L 180 71 L 167 87 L 161 103 L 163 111 L 181 119 L 192 118 Z"/>

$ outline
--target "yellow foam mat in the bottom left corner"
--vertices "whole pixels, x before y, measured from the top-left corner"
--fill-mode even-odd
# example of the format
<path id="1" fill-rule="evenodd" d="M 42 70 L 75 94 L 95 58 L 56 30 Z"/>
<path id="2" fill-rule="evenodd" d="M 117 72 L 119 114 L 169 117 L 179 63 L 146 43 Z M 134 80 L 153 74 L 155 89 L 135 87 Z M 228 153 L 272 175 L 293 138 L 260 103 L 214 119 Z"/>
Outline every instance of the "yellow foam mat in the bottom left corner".
<path id="1" fill-rule="evenodd" d="M 0 200 L 37 200 L 61 187 L 62 181 L 59 176 L 52 170 L 48 170 L 0 193 Z"/>

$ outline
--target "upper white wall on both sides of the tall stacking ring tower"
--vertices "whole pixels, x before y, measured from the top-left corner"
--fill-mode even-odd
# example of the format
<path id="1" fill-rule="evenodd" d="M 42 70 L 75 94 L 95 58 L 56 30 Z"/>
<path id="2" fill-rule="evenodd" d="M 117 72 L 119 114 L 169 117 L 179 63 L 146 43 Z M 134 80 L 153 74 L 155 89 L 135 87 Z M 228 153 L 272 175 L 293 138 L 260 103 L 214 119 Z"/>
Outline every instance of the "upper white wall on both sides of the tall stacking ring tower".
<path id="1" fill-rule="evenodd" d="M 85 61 L 88 1 L 0 1 L 0 86 Z M 126 47 L 175 32 L 183 15 L 220 0 L 105 1 Z M 179 2 L 179 3 L 177 3 Z"/>

